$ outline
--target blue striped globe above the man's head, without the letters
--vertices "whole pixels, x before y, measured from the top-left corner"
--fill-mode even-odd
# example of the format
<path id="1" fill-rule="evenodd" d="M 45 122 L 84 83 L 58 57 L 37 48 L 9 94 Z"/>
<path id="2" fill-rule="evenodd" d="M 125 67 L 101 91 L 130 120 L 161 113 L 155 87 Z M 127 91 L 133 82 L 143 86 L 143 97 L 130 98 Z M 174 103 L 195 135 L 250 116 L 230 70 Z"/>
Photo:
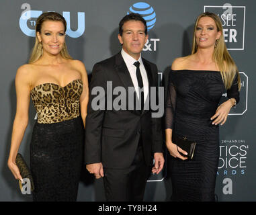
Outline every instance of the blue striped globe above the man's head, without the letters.
<path id="1" fill-rule="evenodd" d="M 151 7 L 151 5 L 148 5 L 148 3 L 134 3 L 134 5 L 132 5 L 127 12 L 127 14 L 130 13 L 139 13 L 146 20 L 146 27 L 148 27 L 148 31 L 155 26 L 157 20 L 156 13 L 153 7 Z"/>

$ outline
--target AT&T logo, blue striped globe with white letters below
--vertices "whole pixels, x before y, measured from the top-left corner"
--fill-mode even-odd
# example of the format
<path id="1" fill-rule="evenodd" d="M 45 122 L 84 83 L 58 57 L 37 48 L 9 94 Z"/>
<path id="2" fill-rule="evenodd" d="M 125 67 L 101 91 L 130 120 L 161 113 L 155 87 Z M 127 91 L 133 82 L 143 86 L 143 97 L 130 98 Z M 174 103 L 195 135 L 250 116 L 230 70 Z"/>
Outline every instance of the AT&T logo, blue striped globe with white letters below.
<path id="1" fill-rule="evenodd" d="M 134 3 L 128 10 L 127 14 L 130 13 L 139 13 L 143 19 L 146 21 L 146 27 L 148 28 L 148 32 L 153 29 L 156 24 L 157 17 L 154 8 L 145 2 Z M 159 42 L 159 38 L 148 38 L 146 41 L 145 47 L 143 51 L 156 51 L 157 50 L 157 42 Z"/>

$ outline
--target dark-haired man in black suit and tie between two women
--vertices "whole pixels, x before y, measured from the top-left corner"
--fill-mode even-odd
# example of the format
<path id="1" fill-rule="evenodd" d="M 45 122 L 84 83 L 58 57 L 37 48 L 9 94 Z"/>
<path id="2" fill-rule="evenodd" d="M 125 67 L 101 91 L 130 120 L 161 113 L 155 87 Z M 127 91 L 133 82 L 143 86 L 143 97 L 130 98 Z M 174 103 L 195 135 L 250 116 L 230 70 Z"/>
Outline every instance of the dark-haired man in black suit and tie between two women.
<path id="1" fill-rule="evenodd" d="M 97 179 L 103 177 L 108 201 L 142 201 L 151 171 L 158 174 L 165 162 L 161 118 L 153 118 L 148 105 L 150 89 L 158 83 L 157 66 L 141 58 L 148 35 L 146 22 L 138 13 L 120 21 L 118 39 L 121 52 L 93 67 L 85 126 L 85 164 Z M 108 95 L 110 87 L 124 90 Z M 132 99 L 128 93 L 131 87 Z M 98 89 L 105 93 L 95 95 Z M 124 92 L 129 95 L 124 96 Z M 114 104 L 115 99 L 120 99 L 127 103 L 119 108 L 104 103 L 97 108 L 97 97 L 99 102 Z"/>

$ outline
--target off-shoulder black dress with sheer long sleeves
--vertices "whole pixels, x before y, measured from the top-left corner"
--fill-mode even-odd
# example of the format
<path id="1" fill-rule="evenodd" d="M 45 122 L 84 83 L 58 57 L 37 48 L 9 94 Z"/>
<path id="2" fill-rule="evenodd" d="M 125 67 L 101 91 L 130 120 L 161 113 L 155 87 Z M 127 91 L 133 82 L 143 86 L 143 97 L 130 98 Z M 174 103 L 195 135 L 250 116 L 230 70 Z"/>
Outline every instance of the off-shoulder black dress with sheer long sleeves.
<path id="1" fill-rule="evenodd" d="M 182 161 L 167 153 L 173 201 L 214 201 L 219 158 L 219 126 L 212 125 L 224 84 L 219 71 L 179 70 L 169 73 L 165 128 L 196 140 L 192 160 Z M 239 102 L 237 77 L 228 98 Z"/>

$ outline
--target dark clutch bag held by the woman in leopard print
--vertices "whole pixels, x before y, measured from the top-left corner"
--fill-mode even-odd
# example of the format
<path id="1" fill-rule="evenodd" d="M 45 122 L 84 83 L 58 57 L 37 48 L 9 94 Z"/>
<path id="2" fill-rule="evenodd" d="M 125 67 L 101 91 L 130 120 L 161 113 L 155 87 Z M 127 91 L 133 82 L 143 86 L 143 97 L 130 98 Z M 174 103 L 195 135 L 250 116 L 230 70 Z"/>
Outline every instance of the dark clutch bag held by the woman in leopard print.
<path id="1" fill-rule="evenodd" d="M 17 153 L 15 163 L 19 168 L 19 173 L 22 175 L 22 179 L 30 179 L 30 190 L 34 191 L 34 181 L 30 173 L 30 169 L 21 154 Z M 19 188 L 22 190 L 22 182 L 19 181 Z"/>

